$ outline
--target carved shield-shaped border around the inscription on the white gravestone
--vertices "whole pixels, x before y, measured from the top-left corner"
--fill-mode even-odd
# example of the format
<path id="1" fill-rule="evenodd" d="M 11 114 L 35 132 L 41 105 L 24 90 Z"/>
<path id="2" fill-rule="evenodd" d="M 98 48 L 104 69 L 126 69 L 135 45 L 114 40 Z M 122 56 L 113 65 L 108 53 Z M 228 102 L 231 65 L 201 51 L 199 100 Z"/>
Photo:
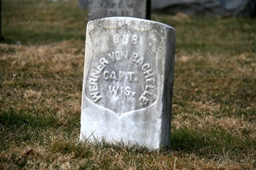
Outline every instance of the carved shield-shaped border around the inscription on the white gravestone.
<path id="1" fill-rule="evenodd" d="M 153 23 L 149 23 L 149 24 L 153 24 Z M 160 85 L 159 83 L 160 82 L 162 82 L 160 79 L 162 79 L 162 73 L 163 73 L 163 69 L 164 68 L 161 68 L 161 66 L 164 66 L 164 65 L 162 65 L 161 63 L 159 63 L 159 62 L 161 62 L 161 60 L 159 59 L 159 58 L 162 58 L 163 57 L 163 52 L 164 52 L 164 50 L 163 50 L 163 47 L 165 47 L 165 41 L 164 41 L 164 39 L 165 39 L 165 37 L 162 37 L 161 36 L 161 33 L 159 33 L 158 31 L 157 31 L 157 28 L 147 28 L 147 29 L 144 29 L 144 30 L 139 30 L 138 28 L 136 28 L 136 26 L 129 26 L 127 23 L 123 23 L 121 26 L 118 26 L 118 27 L 116 27 L 116 28 L 108 28 L 108 27 L 103 27 L 103 26 L 99 26 L 100 28 L 102 28 L 102 29 L 109 29 L 109 30 L 115 30 L 115 29 L 121 29 L 121 28 L 123 28 L 123 27 L 125 27 L 125 26 L 127 26 L 129 29 L 132 29 L 132 30 L 135 30 L 135 31 L 138 31 L 138 32 L 153 32 L 154 34 L 157 34 L 157 36 L 159 37 L 159 39 L 160 39 L 160 41 L 159 41 L 159 45 L 158 45 L 158 47 L 157 47 L 157 50 L 156 50 L 156 52 L 155 52 L 155 54 L 156 54 L 156 57 L 155 57 L 155 66 L 153 66 L 153 67 L 155 67 L 155 71 L 156 71 L 156 78 L 157 78 L 157 81 L 156 81 L 156 83 L 157 83 L 157 90 L 156 90 L 156 93 L 157 93 L 157 95 L 156 95 L 156 98 L 154 98 L 154 102 L 152 102 L 150 105 L 148 105 L 148 106 L 146 106 L 146 107 L 142 107 L 142 108 L 138 108 L 138 109 L 132 109 L 132 110 L 128 110 L 128 111 L 126 111 L 126 112 L 121 112 L 121 113 L 117 113 L 117 112 L 115 112 L 115 111 L 113 111 L 113 109 L 110 109 L 110 108 L 108 108 L 108 107 L 105 107 L 104 105 L 101 105 L 101 104 L 97 104 L 97 103 L 94 103 L 94 101 L 92 101 L 92 99 L 90 98 L 90 96 L 87 96 L 86 95 L 86 89 L 85 89 L 85 87 L 83 87 L 83 95 L 85 95 L 86 96 L 86 98 L 87 98 L 87 100 L 88 101 L 90 101 L 90 103 L 91 104 L 94 104 L 94 105 L 97 105 L 98 107 L 102 107 L 102 108 L 104 108 L 104 109 L 107 109 L 107 110 L 109 110 L 109 111 L 111 111 L 111 112 L 113 112 L 113 113 L 115 113 L 116 115 L 118 115 L 118 116 L 122 116 L 122 115 L 125 115 L 125 114 L 127 114 L 127 113 L 129 113 L 129 112 L 135 112 L 135 111 L 139 111 L 140 109 L 147 109 L 148 107 L 151 107 L 151 106 L 153 106 L 154 104 L 156 104 L 156 102 L 159 100 L 159 90 L 160 90 L 160 88 L 162 88 L 162 85 Z M 85 66 L 87 66 L 87 68 L 85 67 L 85 70 L 84 70 L 84 80 L 86 80 L 86 83 L 85 83 L 85 81 L 83 82 L 84 83 L 84 85 L 83 86 L 86 86 L 86 85 L 88 85 L 88 80 L 89 80 L 89 74 L 90 74 L 90 69 L 91 69 L 91 67 L 92 67 L 92 65 L 91 65 L 91 63 L 93 62 L 93 61 L 96 61 L 97 59 L 95 59 L 94 58 L 94 51 L 93 51 L 93 49 L 92 49 L 92 41 L 91 41 L 91 38 L 94 38 L 94 37 L 91 37 L 90 36 L 90 33 L 91 33 L 91 31 L 94 31 L 95 29 L 97 29 L 96 28 L 96 26 L 95 27 L 93 27 L 93 28 L 91 28 L 91 29 L 89 29 L 89 31 L 87 31 L 87 33 L 86 33 L 86 39 L 88 39 L 87 41 L 86 41 L 86 46 L 90 46 L 91 47 L 91 51 L 86 51 L 86 57 L 85 57 Z M 89 48 L 87 47 L 87 49 L 86 50 L 89 50 Z"/>

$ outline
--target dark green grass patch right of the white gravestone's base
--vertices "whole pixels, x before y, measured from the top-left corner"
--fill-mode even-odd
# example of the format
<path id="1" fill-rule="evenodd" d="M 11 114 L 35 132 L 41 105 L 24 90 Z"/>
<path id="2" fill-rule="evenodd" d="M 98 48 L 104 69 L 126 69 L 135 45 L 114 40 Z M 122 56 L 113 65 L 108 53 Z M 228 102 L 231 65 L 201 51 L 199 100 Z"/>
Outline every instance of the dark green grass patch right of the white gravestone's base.
<path id="1" fill-rule="evenodd" d="M 196 131 L 187 128 L 173 131 L 170 150 L 194 153 L 214 160 L 241 160 L 242 155 L 254 154 L 256 142 L 248 136 L 233 136 L 223 129 Z"/>

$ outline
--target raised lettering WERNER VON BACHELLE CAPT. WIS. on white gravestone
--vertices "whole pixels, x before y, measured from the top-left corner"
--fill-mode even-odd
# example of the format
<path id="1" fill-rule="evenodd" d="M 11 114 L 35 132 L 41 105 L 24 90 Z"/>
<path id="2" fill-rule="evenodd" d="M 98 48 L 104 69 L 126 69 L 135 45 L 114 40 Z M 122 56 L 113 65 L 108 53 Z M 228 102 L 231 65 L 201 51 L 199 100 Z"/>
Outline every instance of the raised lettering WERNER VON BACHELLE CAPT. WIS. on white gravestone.
<path id="1" fill-rule="evenodd" d="M 141 71 L 144 74 L 144 77 L 146 79 L 146 87 L 145 90 L 141 94 L 140 98 L 138 99 L 143 105 L 148 104 L 149 97 L 152 96 L 153 90 L 155 88 L 156 79 L 154 77 L 153 69 L 151 69 L 151 65 L 149 63 L 144 62 L 144 58 L 139 55 L 139 53 L 133 52 L 132 56 L 129 58 L 129 52 L 123 52 L 123 51 L 113 51 L 111 53 L 108 53 L 108 58 L 110 58 L 110 61 L 116 62 L 116 61 L 122 61 L 128 62 L 131 61 L 132 63 L 135 63 L 136 65 L 140 66 Z M 105 67 L 108 65 L 110 61 L 108 61 L 106 58 L 102 57 L 99 58 L 96 65 L 91 69 L 91 72 L 89 74 L 89 93 L 91 95 L 91 98 L 93 99 L 94 103 L 97 103 L 102 98 L 102 93 L 99 90 L 99 77 Z M 124 80 L 124 77 L 127 77 L 129 82 L 138 82 L 138 77 L 135 77 L 135 72 L 109 72 L 104 71 L 103 72 L 103 79 L 104 80 L 114 80 L 114 81 L 122 81 Z M 118 89 L 118 87 L 115 87 Z M 111 87 L 111 89 L 113 89 Z M 121 89 L 121 88 L 120 88 Z M 130 88 L 129 86 L 125 88 L 127 92 L 129 92 Z M 110 90 L 111 92 L 111 90 Z M 113 93 L 113 91 L 112 91 Z M 113 93 L 116 94 L 116 93 Z M 129 94 L 129 93 L 124 93 Z M 135 93 L 132 93 L 132 96 L 135 96 Z"/>

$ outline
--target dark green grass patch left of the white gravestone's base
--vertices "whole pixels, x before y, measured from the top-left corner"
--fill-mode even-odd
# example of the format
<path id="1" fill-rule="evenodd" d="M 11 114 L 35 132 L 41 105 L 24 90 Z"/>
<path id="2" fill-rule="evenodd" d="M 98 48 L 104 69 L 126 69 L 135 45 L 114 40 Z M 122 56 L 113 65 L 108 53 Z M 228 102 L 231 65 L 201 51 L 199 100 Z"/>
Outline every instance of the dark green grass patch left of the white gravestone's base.
<path id="1" fill-rule="evenodd" d="M 0 112 L 0 150 L 6 150 L 12 142 L 50 144 L 51 137 L 60 128 L 64 134 L 72 136 L 77 125 L 77 115 L 63 122 L 55 111 L 6 109 Z"/>

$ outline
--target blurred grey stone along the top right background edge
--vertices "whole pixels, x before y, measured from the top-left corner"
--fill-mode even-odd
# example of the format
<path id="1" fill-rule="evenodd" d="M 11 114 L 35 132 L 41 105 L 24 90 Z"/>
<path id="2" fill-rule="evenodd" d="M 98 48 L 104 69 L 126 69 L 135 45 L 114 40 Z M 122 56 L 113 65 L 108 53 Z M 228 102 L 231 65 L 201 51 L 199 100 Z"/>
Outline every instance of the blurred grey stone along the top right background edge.
<path id="1" fill-rule="evenodd" d="M 256 11 L 255 0 L 153 0 L 152 9 L 176 14 L 252 16 Z"/>

